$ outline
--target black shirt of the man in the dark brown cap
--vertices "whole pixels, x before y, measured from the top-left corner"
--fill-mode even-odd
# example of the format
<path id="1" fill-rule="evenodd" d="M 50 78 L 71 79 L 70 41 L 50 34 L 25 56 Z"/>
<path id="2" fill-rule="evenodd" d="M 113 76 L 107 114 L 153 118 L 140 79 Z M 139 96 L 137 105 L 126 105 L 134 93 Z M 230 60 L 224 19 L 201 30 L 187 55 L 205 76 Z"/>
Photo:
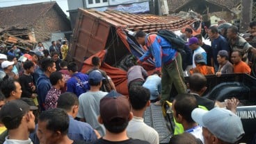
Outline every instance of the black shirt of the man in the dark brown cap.
<path id="1" fill-rule="evenodd" d="M 97 141 L 95 142 L 89 142 L 89 143 L 93 143 L 93 144 L 150 144 L 147 141 L 141 141 L 138 139 L 132 139 L 129 138 L 125 141 L 107 141 L 103 138 L 99 138 Z"/>

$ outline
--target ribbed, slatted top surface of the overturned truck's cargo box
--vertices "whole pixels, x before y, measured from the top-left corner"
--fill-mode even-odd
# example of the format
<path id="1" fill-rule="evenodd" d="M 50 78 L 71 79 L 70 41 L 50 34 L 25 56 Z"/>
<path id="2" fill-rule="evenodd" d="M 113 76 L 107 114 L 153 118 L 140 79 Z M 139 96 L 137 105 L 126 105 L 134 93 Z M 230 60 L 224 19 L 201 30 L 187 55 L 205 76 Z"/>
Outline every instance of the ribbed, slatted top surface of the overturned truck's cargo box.
<path id="1" fill-rule="evenodd" d="M 84 12 L 106 21 L 106 23 L 116 28 L 122 27 L 132 31 L 145 30 L 146 32 L 155 32 L 165 28 L 179 30 L 196 21 L 192 18 L 179 16 L 159 17 L 156 15 L 138 15 L 116 11 L 99 12 L 95 10 L 84 10 Z"/>

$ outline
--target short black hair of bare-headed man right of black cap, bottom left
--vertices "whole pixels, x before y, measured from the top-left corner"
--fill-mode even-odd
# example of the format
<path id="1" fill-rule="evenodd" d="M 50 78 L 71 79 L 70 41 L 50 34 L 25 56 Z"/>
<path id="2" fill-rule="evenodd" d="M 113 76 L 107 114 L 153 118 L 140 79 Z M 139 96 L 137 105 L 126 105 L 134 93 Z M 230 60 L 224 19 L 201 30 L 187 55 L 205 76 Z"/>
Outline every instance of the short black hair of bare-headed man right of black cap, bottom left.
<path id="1" fill-rule="evenodd" d="M 62 135 L 66 135 L 68 126 L 70 125 L 70 118 L 63 109 L 49 109 L 42 111 L 38 118 L 39 122 L 46 122 L 46 129 L 51 132 L 60 131 Z"/>

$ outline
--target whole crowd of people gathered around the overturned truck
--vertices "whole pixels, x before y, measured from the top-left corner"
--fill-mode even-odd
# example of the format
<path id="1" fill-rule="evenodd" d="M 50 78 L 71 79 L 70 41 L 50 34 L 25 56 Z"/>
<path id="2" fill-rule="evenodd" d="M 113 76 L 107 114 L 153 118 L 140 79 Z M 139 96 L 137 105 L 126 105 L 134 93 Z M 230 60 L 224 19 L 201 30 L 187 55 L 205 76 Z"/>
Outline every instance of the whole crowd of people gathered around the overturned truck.
<path id="1" fill-rule="evenodd" d="M 253 31 L 256 22 L 250 27 Z M 184 39 L 192 53 L 183 69 L 182 55 L 170 42 L 157 34 L 136 32 L 138 44 L 148 48 L 137 63 L 153 56 L 156 69 L 148 75 L 143 66 L 129 65 L 128 97 L 118 93 L 100 69 L 99 57 L 92 58 L 93 68 L 87 73 L 79 72 L 75 62 L 65 61 L 66 41 L 51 42 L 49 51 L 41 42 L 26 53 L 13 46 L 0 54 L 0 143 L 158 144 L 159 134 L 144 123 L 143 115 L 150 102 L 163 105 L 170 100 L 172 86 L 178 95 L 171 108 L 175 136 L 170 143 L 237 143 L 244 135 L 234 114 L 239 102 L 203 98 L 205 75 L 250 74 L 252 61 L 247 55 L 256 53 L 256 48 L 251 39 L 237 35 L 236 26 L 227 28 L 227 35 L 211 26 L 207 34 L 211 46 L 186 28 Z M 187 84 L 184 75 L 189 75 Z"/>

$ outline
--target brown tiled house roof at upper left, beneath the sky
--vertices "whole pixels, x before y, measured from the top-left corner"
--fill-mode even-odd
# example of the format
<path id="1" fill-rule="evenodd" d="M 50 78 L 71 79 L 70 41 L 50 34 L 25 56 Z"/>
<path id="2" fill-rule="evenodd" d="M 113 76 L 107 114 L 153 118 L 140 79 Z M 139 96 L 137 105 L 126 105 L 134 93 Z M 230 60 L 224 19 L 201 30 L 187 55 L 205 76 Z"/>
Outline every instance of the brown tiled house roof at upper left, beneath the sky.
<path id="1" fill-rule="evenodd" d="M 61 9 L 56 1 L 0 8 L 0 28 L 28 28 L 53 7 Z"/>

